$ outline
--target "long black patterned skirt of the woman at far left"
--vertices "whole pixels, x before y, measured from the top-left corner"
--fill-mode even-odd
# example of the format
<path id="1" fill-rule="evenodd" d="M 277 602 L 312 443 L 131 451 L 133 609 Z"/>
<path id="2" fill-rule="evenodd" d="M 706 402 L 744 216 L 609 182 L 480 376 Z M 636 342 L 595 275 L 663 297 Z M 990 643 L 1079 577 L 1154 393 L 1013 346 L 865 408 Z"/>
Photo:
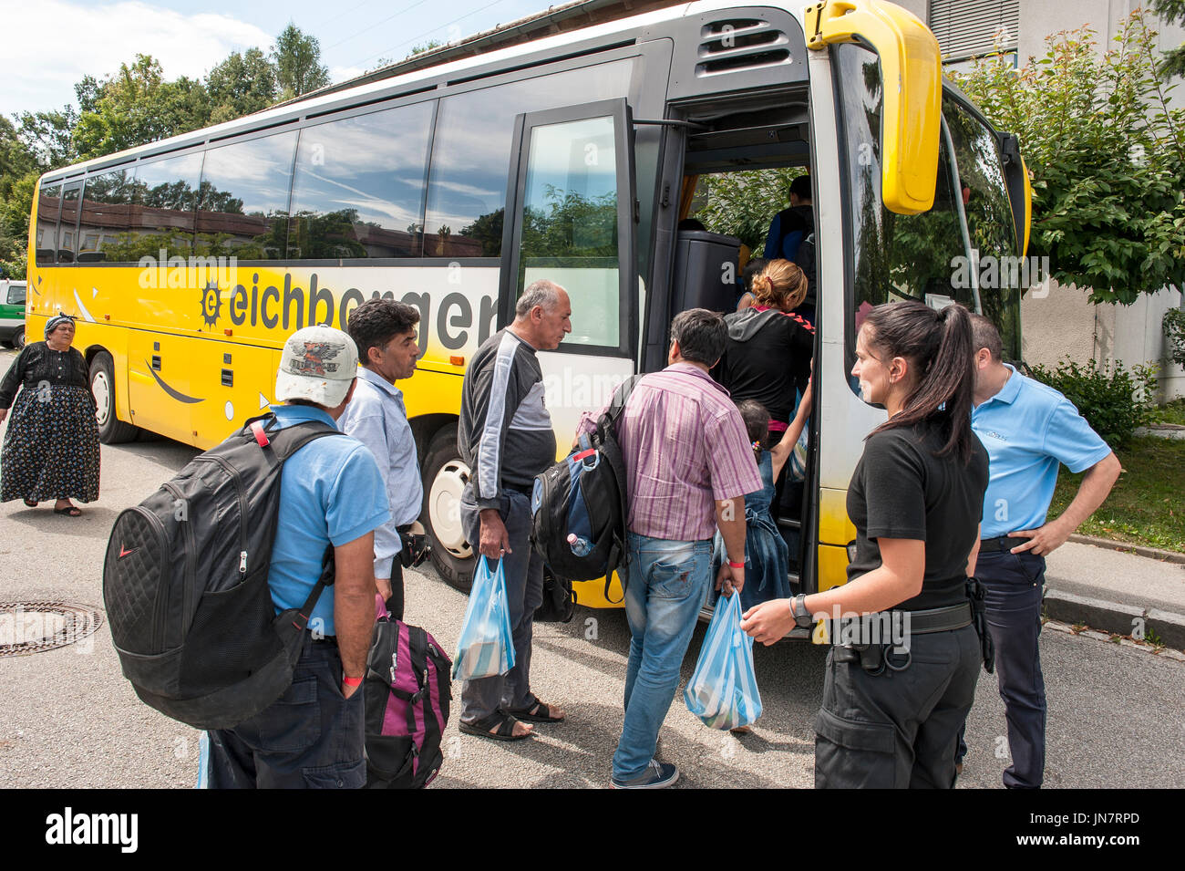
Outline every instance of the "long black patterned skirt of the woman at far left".
<path id="1" fill-rule="evenodd" d="M 98 423 L 87 388 L 21 389 L 0 451 L 0 502 L 98 499 Z"/>

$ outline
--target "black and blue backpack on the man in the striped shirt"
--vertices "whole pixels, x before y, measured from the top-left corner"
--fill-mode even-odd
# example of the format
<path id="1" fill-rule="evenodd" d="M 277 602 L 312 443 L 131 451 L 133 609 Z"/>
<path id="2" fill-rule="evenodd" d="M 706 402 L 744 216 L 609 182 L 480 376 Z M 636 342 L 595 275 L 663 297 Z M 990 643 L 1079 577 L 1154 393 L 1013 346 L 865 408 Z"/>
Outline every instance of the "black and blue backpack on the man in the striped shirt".
<path id="1" fill-rule="evenodd" d="M 626 461 L 616 424 L 639 378 L 617 388 L 596 430 L 581 436 L 576 450 L 536 475 L 531 494 L 531 537 L 552 574 L 571 581 L 604 577 L 607 597 L 614 570 L 628 556 Z"/>

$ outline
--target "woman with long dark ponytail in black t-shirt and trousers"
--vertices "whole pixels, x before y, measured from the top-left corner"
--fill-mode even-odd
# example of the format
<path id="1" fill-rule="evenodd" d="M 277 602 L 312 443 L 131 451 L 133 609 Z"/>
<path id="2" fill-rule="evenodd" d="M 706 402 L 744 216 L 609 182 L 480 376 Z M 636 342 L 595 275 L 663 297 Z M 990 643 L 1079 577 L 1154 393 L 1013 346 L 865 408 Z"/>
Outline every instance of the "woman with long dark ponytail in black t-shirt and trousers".
<path id="1" fill-rule="evenodd" d="M 773 643 L 814 616 L 831 621 L 816 787 L 952 787 L 981 661 L 967 578 L 987 453 L 971 429 L 969 314 L 878 306 L 856 356 L 864 401 L 889 420 L 865 440 L 847 488 L 848 582 L 751 608 L 742 628 Z"/>

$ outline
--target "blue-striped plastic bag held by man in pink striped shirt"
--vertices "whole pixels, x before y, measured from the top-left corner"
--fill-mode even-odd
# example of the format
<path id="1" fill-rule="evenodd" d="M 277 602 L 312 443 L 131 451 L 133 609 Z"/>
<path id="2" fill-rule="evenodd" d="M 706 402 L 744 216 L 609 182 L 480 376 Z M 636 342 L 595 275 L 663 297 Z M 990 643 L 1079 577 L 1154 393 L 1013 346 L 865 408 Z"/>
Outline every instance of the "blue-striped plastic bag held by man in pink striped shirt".
<path id="1" fill-rule="evenodd" d="M 712 729 L 736 729 L 761 716 L 752 639 L 741 630 L 741 596 L 720 596 L 683 693 L 687 710 Z"/>

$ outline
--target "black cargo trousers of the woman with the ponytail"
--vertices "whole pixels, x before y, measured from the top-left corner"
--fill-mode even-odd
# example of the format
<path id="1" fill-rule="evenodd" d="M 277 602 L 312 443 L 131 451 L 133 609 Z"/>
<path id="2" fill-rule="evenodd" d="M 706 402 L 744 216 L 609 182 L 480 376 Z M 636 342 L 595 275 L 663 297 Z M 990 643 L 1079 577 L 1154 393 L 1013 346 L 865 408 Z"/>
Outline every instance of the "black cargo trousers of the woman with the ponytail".
<path id="1" fill-rule="evenodd" d="M 955 742 L 982 665 L 974 627 L 911 636 L 899 672 L 869 674 L 835 649 L 815 719 L 815 787 L 954 786 Z"/>

